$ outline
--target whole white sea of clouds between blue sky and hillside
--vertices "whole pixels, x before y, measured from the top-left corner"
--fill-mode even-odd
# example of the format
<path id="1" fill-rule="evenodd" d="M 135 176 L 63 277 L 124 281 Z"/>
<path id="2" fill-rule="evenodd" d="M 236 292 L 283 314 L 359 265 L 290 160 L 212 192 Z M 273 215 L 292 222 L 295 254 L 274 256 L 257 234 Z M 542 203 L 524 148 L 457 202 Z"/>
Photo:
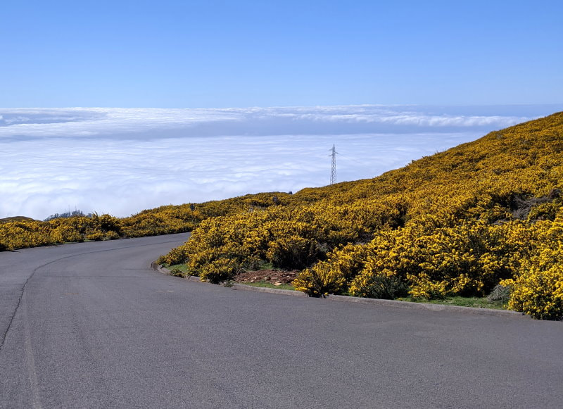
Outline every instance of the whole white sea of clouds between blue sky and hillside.
<path id="1" fill-rule="evenodd" d="M 563 106 L 0 108 L 0 218 L 328 184 L 386 170 Z"/>

